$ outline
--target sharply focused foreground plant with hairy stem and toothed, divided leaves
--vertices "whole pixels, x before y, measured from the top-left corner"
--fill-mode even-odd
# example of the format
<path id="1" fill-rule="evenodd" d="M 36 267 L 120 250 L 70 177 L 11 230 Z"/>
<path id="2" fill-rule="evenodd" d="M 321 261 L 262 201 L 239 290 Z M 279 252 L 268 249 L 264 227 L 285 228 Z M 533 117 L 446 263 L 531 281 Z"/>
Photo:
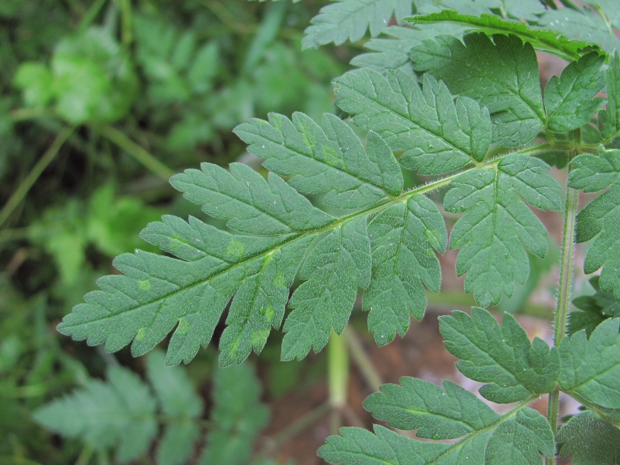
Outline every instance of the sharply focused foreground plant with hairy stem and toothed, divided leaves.
<path id="1" fill-rule="evenodd" d="M 479 307 L 440 318 L 446 349 L 486 383 L 482 397 L 510 407 L 495 412 L 449 381 L 401 378 L 364 406 L 415 435 L 342 428 L 319 455 L 343 465 L 620 463 L 620 15 L 612 1 L 562 3 L 330 2 L 304 47 L 384 34 L 334 80 L 338 116 L 237 126 L 266 175 L 203 163 L 170 180 L 225 226 L 148 224 L 141 237 L 166 255 L 117 257 L 122 274 L 101 278 L 58 329 L 108 352 L 131 344 L 135 356 L 172 333 L 175 365 L 210 343 L 226 311 L 221 365 L 260 352 L 280 327 L 281 358 L 293 360 L 340 334 L 361 296 L 384 345 L 423 317 L 427 291 L 440 291 L 437 255 L 456 249 Z M 567 61 L 544 90 L 537 51 Z M 425 178 L 410 188 L 404 170 Z M 581 210 L 580 190 L 597 193 Z M 449 237 L 442 209 L 458 217 Z M 525 282 L 530 254 L 547 252 L 533 210 L 564 222 L 551 347 L 484 309 Z M 596 294 L 570 312 L 575 241 L 591 241 L 584 270 L 600 274 Z M 560 392 L 583 405 L 561 427 Z M 543 394 L 546 417 L 528 407 Z"/>

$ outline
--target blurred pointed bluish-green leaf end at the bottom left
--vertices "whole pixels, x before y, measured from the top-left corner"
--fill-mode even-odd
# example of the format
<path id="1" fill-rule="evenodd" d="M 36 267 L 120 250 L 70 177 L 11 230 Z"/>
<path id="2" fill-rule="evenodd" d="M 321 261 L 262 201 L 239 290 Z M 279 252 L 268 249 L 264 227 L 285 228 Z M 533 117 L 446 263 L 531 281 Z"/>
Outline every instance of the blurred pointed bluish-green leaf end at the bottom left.
<path id="1" fill-rule="evenodd" d="M 139 458 L 157 435 L 156 400 L 138 376 L 113 366 L 108 382 L 90 379 L 73 394 L 33 414 L 35 421 L 95 450 L 116 450 L 119 462 Z"/>

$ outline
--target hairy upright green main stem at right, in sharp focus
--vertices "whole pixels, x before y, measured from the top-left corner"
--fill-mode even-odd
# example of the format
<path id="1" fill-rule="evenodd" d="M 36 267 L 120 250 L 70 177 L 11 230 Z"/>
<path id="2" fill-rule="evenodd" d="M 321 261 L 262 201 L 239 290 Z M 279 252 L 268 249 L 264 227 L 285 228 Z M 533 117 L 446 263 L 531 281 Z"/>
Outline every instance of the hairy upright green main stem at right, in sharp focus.
<path id="1" fill-rule="evenodd" d="M 569 318 L 570 290 L 573 275 L 573 251 L 575 244 L 575 224 L 577 223 L 577 190 L 566 188 L 566 201 L 564 210 L 564 237 L 562 237 L 562 250 L 560 258 L 560 286 L 557 296 L 557 308 L 554 335 L 554 345 L 557 347 L 566 334 L 566 325 Z M 551 429 L 557 431 L 557 415 L 559 408 L 560 390 L 558 387 L 549 394 L 547 418 L 551 423 Z M 547 457 L 547 465 L 553 465 L 554 458 Z"/>

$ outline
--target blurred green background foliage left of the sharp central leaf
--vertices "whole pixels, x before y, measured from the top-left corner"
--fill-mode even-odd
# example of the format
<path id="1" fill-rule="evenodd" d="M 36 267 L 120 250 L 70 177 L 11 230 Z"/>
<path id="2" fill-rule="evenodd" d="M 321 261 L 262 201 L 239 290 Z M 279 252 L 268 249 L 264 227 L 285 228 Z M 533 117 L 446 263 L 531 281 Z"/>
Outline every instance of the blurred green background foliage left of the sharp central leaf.
<path id="1" fill-rule="evenodd" d="M 317 118 L 332 110 L 330 81 L 347 69 L 352 50 L 301 51 L 303 29 L 326 2 L 0 1 L 0 464 L 191 458 L 170 459 L 174 449 L 165 447 L 174 446 L 174 438 L 162 439 L 164 445 L 150 453 L 145 440 L 143 450 L 120 446 L 115 455 L 107 453 L 114 445 L 107 430 L 99 432 L 104 446 L 98 448 L 96 435 L 89 444 L 44 428 L 58 430 L 58 412 L 66 414 L 79 400 L 49 404 L 51 399 L 76 387 L 83 402 L 89 392 L 99 392 L 123 405 L 118 392 L 141 383 L 139 389 L 156 394 L 143 399 L 148 412 L 158 411 L 154 405 L 161 401 L 152 380 L 144 384 L 125 373 L 148 378 L 164 370 L 151 366 L 159 358 L 110 356 L 61 337 L 55 325 L 95 288 L 97 277 L 114 272 L 115 255 L 148 247 L 138 236 L 146 223 L 164 213 L 200 215 L 170 187 L 171 174 L 202 161 L 253 162 L 231 133 L 250 117 L 303 111 Z M 278 359 L 270 347 L 263 355 Z M 166 376 L 177 373 L 189 397 L 197 392 L 209 399 L 212 387 L 211 415 L 221 418 L 234 420 L 234 412 L 227 417 L 218 411 L 224 395 L 218 383 L 238 382 L 252 391 L 240 392 L 239 402 L 252 401 L 261 413 L 247 420 L 249 436 L 237 438 L 237 446 L 245 444 L 241 458 L 226 458 L 246 463 L 265 423 L 256 404 L 260 387 L 252 370 L 237 381 L 232 371 L 232 379 L 218 381 L 216 375 L 214 381 L 215 359 L 215 352 L 201 351 L 188 368 L 170 368 L 183 373 Z M 273 366 L 265 378 L 278 396 L 301 371 L 295 364 Z M 208 445 L 223 448 L 231 435 L 201 419 L 210 417 L 201 415 L 203 400 L 193 401 L 198 407 L 187 418 L 194 422 L 191 435 L 198 435 L 196 428 L 209 431 L 199 440 L 207 463 L 221 453 Z M 164 414 L 153 417 L 154 428 L 166 423 L 166 405 L 161 401 Z M 249 408 L 230 399 L 226 405 Z M 233 420 L 228 428 L 239 427 Z M 82 437 L 78 433 L 73 436 Z"/>

